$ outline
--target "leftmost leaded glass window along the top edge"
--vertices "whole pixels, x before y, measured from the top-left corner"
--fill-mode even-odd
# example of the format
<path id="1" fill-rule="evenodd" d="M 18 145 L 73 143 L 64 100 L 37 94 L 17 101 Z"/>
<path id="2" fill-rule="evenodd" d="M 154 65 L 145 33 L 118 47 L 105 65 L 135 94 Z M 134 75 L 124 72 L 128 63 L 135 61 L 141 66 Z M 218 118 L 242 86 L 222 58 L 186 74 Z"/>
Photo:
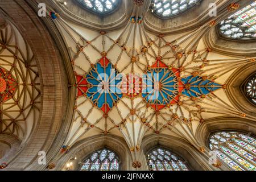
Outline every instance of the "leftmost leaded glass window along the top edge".
<path id="1" fill-rule="evenodd" d="M 108 14 L 118 5 L 119 0 L 77 0 L 86 9 L 98 14 Z"/>

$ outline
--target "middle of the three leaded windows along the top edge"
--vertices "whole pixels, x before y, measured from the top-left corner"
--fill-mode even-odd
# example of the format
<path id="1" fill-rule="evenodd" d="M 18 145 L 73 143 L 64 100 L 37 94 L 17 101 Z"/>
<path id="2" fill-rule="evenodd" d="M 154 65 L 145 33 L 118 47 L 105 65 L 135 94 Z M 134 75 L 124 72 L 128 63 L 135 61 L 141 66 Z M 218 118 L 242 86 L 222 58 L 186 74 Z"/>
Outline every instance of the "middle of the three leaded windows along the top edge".
<path id="1" fill-rule="evenodd" d="M 152 0 L 151 8 L 160 18 L 170 18 L 191 9 L 201 0 Z"/>

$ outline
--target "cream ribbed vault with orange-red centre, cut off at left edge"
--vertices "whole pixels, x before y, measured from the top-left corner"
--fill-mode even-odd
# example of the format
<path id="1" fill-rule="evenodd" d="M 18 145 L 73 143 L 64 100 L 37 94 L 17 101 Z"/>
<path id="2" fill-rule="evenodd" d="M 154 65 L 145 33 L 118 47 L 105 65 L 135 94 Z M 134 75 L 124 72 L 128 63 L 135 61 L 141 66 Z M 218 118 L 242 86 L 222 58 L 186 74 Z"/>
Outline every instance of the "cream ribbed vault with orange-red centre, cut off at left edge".
<path id="1" fill-rule="evenodd" d="M 26 139 L 40 111 L 35 57 L 12 24 L 0 28 L 0 134 Z"/>

